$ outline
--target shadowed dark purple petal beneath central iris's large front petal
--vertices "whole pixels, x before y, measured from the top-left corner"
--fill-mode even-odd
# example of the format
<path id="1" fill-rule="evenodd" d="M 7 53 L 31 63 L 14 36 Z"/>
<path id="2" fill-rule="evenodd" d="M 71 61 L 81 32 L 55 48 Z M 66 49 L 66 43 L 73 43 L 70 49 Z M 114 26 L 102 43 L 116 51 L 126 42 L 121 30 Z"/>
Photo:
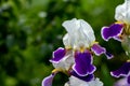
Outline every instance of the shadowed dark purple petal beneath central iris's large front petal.
<path id="1" fill-rule="evenodd" d="M 94 74 L 88 74 L 86 76 L 79 76 L 75 71 L 70 71 L 70 74 L 84 81 L 84 82 L 90 82 L 94 78 Z"/>

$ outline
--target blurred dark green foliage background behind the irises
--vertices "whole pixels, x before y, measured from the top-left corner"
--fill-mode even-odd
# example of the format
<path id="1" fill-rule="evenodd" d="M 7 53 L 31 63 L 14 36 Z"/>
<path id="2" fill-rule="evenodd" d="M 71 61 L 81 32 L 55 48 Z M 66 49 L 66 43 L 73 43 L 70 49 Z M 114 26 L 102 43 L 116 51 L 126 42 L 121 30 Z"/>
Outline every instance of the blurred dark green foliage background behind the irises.
<path id="1" fill-rule="evenodd" d="M 113 86 L 116 70 L 127 59 L 119 42 L 103 41 L 101 28 L 115 22 L 115 8 L 123 0 L 0 0 L 0 86 L 40 86 L 53 70 L 49 59 L 63 45 L 66 33 L 62 23 L 82 18 L 94 30 L 96 41 L 115 58 L 94 56 L 95 76 L 104 86 Z M 53 86 L 63 86 L 68 77 L 60 73 Z"/>

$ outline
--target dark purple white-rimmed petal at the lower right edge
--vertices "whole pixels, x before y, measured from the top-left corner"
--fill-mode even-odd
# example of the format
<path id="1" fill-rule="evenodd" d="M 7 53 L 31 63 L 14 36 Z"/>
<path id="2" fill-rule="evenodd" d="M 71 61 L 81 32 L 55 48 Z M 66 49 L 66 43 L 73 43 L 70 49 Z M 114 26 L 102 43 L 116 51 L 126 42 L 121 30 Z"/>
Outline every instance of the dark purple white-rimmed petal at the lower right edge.
<path id="1" fill-rule="evenodd" d="M 110 72 L 115 77 L 127 76 L 130 72 L 130 62 L 125 62 L 118 70 Z"/>

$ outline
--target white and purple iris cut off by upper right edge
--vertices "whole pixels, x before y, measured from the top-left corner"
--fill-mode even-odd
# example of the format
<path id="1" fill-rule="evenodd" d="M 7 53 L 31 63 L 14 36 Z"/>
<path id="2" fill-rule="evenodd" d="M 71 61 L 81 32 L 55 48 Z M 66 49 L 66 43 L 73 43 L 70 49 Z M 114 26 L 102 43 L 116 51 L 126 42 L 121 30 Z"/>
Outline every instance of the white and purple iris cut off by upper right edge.
<path id="1" fill-rule="evenodd" d="M 103 27 L 101 34 L 105 41 L 115 39 L 121 42 L 126 54 L 130 57 L 130 0 L 119 4 L 115 11 L 116 23 Z"/>

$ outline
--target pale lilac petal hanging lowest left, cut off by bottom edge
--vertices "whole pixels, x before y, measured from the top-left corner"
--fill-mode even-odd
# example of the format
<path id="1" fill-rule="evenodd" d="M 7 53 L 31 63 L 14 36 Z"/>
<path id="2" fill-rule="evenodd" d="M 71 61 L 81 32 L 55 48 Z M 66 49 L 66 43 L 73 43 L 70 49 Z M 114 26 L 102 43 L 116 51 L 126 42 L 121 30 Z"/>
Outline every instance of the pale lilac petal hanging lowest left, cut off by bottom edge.
<path id="1" fill-rule="evenodd" d="M 42 86 L 52 86 L 52 81 L 53 81 L 54 76 L 55 76 L 55 74 L 52 73 L 51 75 L 43 78 Z"/>

